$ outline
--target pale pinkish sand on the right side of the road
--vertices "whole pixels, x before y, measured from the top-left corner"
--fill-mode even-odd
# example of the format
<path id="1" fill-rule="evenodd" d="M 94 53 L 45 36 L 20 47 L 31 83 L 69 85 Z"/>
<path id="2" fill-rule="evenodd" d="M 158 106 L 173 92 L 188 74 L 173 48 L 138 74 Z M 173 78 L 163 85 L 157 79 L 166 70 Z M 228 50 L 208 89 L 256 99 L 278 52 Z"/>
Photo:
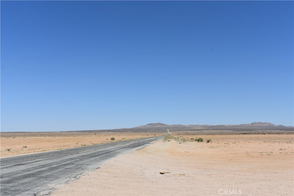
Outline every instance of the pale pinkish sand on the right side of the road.
<path id="1" fill-rule="evenodd" d="M 293 135 L 208 137 L 212 143 L 155 142 L 51 195 L 294 195 Z"/>

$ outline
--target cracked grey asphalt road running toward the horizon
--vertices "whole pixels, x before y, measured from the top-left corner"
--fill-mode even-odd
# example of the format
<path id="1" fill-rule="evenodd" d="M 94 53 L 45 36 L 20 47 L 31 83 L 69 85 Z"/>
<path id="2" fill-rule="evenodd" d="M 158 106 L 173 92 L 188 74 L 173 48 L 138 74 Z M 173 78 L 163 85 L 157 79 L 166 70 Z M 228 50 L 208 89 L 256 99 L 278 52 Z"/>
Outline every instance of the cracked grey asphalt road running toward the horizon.
<path id="1" fill-rule="evenodd" d="M 98 169 L 104 161 L 165 136 L 1 158 L 0 195 L 48 195 L 58 185 Z"/>

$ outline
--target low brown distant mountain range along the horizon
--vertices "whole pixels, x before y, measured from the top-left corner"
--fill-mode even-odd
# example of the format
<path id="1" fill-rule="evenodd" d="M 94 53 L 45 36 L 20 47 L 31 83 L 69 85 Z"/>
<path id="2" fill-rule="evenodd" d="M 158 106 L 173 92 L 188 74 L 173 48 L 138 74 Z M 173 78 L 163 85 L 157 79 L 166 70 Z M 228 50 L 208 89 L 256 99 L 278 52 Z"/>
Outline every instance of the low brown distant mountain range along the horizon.
<path id="1" fill-rule="evenodd" d="M 243 129 L 243 128 L 250 128 L 250 129 L 263 129 L 263 128 L 294 128 L 292 126 L 284 126 L 284 125 L 274 125 L 272 123 L 262 123 L 262 122 L 254 122 L 250 124 L 240 124 L 240 125 L 167 125 L 163 123 L 149 123 L 147 125 L 141 125 L 138 127 L 133 127 L 130 129 Z"/>

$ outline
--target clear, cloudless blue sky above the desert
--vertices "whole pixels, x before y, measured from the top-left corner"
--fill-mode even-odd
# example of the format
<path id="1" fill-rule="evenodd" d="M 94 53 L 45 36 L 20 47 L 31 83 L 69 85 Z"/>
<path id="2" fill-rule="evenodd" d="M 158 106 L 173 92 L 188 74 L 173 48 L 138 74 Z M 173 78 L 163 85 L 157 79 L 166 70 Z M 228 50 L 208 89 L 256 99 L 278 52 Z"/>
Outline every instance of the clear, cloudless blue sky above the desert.
<path id="1" fill-rule="evenodd" d="M 293 1 L 1 1 L 1 131 L 293 126 Z"/>

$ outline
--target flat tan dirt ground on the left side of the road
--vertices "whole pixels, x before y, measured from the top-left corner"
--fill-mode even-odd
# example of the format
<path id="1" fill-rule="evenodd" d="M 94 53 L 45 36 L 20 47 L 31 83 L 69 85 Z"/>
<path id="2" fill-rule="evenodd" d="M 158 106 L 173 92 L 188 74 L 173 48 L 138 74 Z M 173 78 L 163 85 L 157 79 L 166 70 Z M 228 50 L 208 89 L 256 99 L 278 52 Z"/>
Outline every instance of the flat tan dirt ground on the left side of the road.
<path id="1" fill-rule="evenodd" d="M 16 132 L 1 133 L 1 157 L 146 138 L 166 133 Z"/>

